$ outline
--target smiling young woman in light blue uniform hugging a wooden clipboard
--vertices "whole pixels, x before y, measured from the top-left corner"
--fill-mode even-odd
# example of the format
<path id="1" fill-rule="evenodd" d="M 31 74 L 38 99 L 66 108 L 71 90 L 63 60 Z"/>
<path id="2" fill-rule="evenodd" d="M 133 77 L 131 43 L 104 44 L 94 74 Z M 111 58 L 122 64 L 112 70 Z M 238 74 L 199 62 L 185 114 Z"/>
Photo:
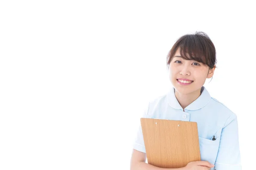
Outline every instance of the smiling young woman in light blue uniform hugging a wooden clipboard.
<path id="1" fill-rule="evenodd" d="M 215 54 L 215 46 L 204 32 L 180 37 L 166 59 L 173 88 L 149 102 L 143 114 L 145 118 L 197 122 L 201 161 L 189 162 L 186 167 L 176 168 L 179 170 L 241 170 L 236 114 L 212 98 L 203 86 L 214 74 Z M 131 170 L 164 170 L 145 160 L 140 127 Z"/>

